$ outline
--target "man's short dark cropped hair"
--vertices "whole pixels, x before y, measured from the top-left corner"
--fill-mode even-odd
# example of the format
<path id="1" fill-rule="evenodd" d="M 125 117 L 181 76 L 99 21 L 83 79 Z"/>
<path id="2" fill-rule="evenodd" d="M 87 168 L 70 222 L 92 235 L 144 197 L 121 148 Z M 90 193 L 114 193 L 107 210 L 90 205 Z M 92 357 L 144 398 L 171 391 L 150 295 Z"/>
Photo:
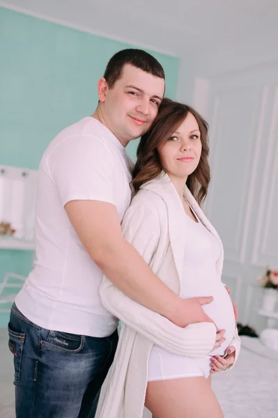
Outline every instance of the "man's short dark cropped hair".
<path id="1" fill-rule="evenodd" d="M 105 70 L 105 77 L 109 88 L 113 88 L 116 81 L 121 78 L 123 67 L 126 64 L 133 65 L 143 71 L 165 79 L 165 73 L 162 65 L 155 59 L 154 56 L 148 54 L 143 49 L 123 49 L 117 52 L 110 59 Z"/>

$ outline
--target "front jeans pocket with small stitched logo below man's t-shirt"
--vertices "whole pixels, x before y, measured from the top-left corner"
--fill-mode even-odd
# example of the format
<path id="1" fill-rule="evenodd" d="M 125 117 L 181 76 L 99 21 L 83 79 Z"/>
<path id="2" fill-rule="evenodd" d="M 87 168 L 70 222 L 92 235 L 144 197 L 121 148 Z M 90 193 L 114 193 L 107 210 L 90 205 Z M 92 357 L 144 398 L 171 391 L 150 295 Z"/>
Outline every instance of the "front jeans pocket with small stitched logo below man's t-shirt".
<path id="1" fill-rule="evenodd" d="M 85 337 L 68 332 L 49 331 L 47 338 L 40 342 L 42 349 L 50 348 L 61 353 L 79 353 L 84 347 Z"/>

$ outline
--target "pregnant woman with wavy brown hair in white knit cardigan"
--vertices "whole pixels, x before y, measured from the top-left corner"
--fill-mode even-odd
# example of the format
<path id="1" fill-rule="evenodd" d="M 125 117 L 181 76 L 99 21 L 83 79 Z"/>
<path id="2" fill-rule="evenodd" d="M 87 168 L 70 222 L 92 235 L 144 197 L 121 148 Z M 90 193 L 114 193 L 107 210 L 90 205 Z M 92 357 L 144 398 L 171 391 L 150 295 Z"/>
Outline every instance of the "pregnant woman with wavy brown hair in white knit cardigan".
<path id="1" fill-rule="evenodd" d="M 240 340 L 221 281 L 222 242 L 200 208 L 210 180 L 208 125 L 164 99 L 137 157 L 123 234 L 181 297 L 213 296 L 203 306 L 213 323 L 176 327 L 104 279 L 102 302 L 123 327 L 97 417 L 141 418 L 145 403 L 154 418 L 222 418 L 210 375 L 231 369 Z M 217 329 L 225 330 L 220 346 Z"/>

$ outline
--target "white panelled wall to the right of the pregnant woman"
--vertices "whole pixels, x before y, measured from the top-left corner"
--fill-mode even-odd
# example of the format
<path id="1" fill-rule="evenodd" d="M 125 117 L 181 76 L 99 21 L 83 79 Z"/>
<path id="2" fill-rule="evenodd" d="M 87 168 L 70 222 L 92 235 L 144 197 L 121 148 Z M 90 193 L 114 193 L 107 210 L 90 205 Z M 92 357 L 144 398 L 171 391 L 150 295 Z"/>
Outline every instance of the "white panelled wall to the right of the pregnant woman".
<path id="1" fill-rule="evenodd" d="M 186 81 L 180 74 L 178 98 L 210 123 L 212 182 L 205 208 L 224 243 L 223 280 L 239 320 L 261 330 L 263 291 L 256 277 L 266 265 L 278 268 L 278 55 L 277 63 L 264 63 L 263 54 L 243 59 L 240 45 L 239 52 L 222 61 L 219 54 L 191 57 L 195 68 Z M 188 61 L 182 60 L 184 75 Z"/>

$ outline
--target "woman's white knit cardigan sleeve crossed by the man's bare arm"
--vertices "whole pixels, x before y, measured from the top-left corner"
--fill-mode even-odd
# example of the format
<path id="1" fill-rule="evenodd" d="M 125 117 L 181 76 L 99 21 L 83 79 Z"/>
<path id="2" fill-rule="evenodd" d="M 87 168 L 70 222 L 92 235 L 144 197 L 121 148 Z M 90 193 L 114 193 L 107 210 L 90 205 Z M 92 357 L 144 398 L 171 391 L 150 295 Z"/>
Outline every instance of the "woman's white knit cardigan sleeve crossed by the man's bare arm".
<path id="1" fill-rule="evenodd" d="M 125 239 L 137 249 L 148 264 L 160 239 L 159 228 L 157 217 L 144 206 L 130 206 L 123 221 Z M 201 357 L 213 350 L 216 334 L 213 323 L 178 327 L 164 316 L 130 299 L 106 277 L 100 286 L 100 297 L 108 311 L 123 323 L 171 353 Z"/>

